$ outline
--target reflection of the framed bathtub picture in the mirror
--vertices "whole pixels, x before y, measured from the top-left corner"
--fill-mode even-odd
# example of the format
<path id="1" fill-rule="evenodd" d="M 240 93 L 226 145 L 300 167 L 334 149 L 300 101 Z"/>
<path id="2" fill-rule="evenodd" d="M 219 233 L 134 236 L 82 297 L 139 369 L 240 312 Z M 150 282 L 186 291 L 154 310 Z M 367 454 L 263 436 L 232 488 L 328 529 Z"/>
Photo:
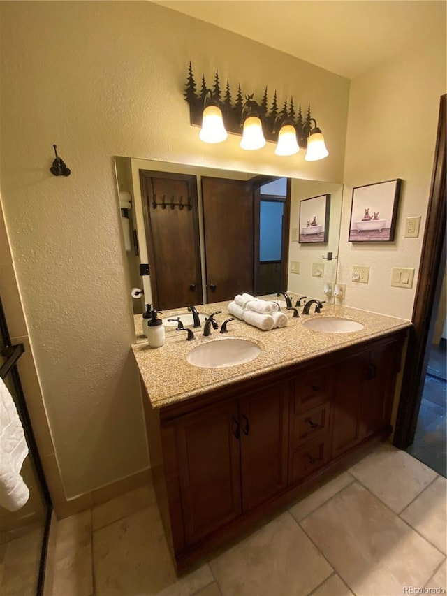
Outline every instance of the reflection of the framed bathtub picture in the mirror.
<path id="1" fill-rule="evenodd" d="M 321 194 L 300 201 L 301 243 L 328 242 L 330 194 Z"/>

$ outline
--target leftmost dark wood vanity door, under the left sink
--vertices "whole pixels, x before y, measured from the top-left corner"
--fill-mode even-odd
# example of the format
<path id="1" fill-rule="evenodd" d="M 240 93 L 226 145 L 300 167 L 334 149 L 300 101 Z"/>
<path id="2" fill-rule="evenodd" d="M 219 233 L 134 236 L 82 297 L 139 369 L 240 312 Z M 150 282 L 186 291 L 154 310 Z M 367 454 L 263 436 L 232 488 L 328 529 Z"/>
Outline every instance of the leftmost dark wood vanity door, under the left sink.
<path id="1" fill-rule="evenodd" d="M 242 512 L 237 401 L 185 416 L 176 426 L 186 544 L 194 544 Z"/>

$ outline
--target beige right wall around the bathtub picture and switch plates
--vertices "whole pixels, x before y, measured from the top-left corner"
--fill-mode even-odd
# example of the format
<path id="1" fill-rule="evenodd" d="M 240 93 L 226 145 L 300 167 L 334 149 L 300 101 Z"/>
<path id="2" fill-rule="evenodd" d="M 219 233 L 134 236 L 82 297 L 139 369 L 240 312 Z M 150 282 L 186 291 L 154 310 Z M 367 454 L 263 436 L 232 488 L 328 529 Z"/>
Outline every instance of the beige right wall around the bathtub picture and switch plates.
<path id="1" fill-rule="evenodd" d="M 351 84 L 337 277 L 346 284 L 347 306 L 411 319 L 444 93 L 445 34 Z M 347 242 L 352 187 L 393 178 L 404 181 L 395 242 Z M 419 238 L 404 238 L 405 219 L 414 215 L 422 216 Z M 353 265 L 369 265 L 369 284 L 352 282 Z M 393 267 L 416 270 L 413 289 L 390 286 Z"/>

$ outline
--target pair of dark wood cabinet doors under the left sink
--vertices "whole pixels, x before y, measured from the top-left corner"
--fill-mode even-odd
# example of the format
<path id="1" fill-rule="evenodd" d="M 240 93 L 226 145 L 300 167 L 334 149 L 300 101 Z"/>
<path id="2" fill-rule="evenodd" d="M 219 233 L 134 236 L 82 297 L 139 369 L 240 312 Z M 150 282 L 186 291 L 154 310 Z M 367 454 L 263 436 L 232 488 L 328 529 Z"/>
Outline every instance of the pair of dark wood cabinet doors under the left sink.
<path id="1" fill-rule="evenodd" d="M 186 546 L 286 488 L 288 383 L 173 421 Z"/>

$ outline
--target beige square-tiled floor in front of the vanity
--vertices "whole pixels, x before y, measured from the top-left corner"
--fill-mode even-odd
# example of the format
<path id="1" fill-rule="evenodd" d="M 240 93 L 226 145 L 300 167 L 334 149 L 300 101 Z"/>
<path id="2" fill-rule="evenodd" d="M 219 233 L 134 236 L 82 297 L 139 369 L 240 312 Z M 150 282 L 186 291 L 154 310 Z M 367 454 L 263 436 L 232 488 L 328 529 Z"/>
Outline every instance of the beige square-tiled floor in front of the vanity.
<path id="1" fill-rule="evenodd" d="M 386 444 L 178 579 L 151 487 L 59 522 L 54 596 L 447 588 L 446 479 Z"/>

